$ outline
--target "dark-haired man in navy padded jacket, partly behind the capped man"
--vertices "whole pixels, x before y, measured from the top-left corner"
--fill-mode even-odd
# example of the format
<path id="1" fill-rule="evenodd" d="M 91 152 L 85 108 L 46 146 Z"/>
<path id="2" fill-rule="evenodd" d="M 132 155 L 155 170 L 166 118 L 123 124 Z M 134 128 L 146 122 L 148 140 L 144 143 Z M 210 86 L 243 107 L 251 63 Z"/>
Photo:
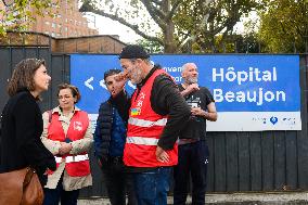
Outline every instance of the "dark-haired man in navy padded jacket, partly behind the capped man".
<path id="1" fill-rule="evenodd" d="M 125 172 L 123 164 L 123 151 L 126 140 L 126 123 L 114 106 L 113 98 L 121 92 L 125 98 L 124 85 L 114 79 L 120 69 L 110 69 L 104 73 L 104 80 L 111 97 L 100 106 L 97 128 L 94 132 L 95 155 L 102 168 L 106 182 L 107 194 L 112 205 L 126 204 L 126 188 L 128 204 L 136 205 L 132 180 Z M 124 185 L 126 184 L 126 185 Z"/>

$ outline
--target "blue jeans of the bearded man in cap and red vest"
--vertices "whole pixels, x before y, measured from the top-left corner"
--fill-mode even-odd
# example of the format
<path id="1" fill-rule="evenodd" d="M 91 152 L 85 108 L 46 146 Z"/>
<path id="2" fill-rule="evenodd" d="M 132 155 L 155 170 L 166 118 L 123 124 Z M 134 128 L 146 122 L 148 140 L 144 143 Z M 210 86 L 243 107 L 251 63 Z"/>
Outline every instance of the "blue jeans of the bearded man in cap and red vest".
<path id="1" fill-rule="evenodd" d="M 132 174 L 138 205 L 166 205 L 170 167 Z"/>

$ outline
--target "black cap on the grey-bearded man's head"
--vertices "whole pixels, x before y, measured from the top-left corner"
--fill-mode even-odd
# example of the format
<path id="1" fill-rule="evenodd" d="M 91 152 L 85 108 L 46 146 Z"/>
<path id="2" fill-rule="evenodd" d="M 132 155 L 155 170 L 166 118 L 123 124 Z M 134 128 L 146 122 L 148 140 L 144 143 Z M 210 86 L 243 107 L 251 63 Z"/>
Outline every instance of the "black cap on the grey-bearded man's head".
<path id="1" fill-rule="evenodd" d="M 123 48 L 118 59 L 149 59 L 146 51 L 138 44 L 128 44 Z"/>

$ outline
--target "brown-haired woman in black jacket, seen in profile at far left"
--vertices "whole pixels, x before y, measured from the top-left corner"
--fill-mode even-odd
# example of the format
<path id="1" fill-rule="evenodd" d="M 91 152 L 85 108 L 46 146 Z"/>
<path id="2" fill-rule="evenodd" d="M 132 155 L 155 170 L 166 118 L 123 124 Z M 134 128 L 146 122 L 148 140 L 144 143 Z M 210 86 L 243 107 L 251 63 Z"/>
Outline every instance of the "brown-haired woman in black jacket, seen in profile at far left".
<path id="1" fill-rule="evenodd" d="M 37 104 L 50 80 L 43 60 L 26 59 L 16 65 L 2 111 L 0 172 L 31 167 L 43 183 L 47 170 L 56 168 L 53 155 L 40 141 L 42 118 Z"/>

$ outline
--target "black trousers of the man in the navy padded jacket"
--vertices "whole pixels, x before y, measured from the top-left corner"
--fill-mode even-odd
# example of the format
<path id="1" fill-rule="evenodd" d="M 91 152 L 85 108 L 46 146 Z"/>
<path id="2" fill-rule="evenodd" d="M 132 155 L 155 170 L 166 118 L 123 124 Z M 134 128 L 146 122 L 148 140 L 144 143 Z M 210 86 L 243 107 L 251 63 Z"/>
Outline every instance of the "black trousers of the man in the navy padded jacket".
<path id="1" fill-rule="evenodd" d="M 128 204 L 137 205 L 131 174 L 127 174 L 121 159 L 111 158 L 102 168 L 107 194 L 112 205 L 125 205 L 126 193 Z"/>

